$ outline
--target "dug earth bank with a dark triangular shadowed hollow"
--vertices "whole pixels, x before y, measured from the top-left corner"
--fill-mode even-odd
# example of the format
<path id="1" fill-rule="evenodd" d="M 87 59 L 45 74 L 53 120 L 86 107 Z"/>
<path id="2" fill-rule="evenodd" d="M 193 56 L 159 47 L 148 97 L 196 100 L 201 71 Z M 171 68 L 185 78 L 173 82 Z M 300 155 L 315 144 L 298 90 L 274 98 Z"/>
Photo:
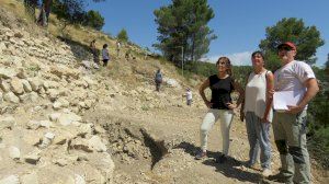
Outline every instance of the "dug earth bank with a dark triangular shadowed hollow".
<path id="1" fill-rule="evenodd" d="M 156 140 L 138 125 L 116 119 L 104 124 L 103 127 L 107 133 L 109 150 L 116 162 L 152 170 L 168 153 L 164 140 Z"/>

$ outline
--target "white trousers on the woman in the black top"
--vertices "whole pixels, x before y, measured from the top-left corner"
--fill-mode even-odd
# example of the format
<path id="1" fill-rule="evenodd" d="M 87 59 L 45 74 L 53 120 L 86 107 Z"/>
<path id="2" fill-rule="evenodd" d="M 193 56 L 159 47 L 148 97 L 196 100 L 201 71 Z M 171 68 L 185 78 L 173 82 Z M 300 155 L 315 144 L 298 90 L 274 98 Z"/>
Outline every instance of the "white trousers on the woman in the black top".
<path id="1" fill-rule="evenodd" d="M 200 137 L 201 137 L 201 149 L 203 151 L 207 150 L 207 139 L 208 133 L 212 129 L 213 125 L 218 120 L 220 122 L 220 131 L 223 138 L 223 153 L 228 156 L 229 148 L 229 129 L 232 120 L 234 112 L 231 110 L 214 110 L 209 108 L 207 114 L 205 115 L 201 128 L 200 128 Z"/>

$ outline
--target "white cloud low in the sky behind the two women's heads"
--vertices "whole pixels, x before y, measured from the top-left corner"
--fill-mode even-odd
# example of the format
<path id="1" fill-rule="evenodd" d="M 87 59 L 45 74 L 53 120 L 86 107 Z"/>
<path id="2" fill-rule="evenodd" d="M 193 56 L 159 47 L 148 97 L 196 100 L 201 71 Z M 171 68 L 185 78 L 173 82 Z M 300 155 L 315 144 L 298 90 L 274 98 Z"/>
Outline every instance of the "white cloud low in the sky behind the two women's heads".
<path id="1" fill-rule="evenodd" d="M 218 55 L 218 56 L 211 56 L 208 58 L 204 58 L 202 60 L 208 60 L 211 62 L 216 62 L 219 57 L 226 56 L 230 59 L 231 65 L 234 66 L 251 66 L 251 51 L 243 51 L 243 53 L 234 53 L 227 55 Z"/>

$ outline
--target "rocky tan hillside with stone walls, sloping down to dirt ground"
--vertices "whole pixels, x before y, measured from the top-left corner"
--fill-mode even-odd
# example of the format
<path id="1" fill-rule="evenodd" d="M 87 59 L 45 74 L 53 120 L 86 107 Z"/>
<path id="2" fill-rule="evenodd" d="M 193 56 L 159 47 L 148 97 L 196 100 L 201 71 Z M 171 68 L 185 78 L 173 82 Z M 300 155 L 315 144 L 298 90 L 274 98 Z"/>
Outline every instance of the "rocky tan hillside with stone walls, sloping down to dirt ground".
<path id="1" fill-rule="evenodd" d="M 54 35 L 3 7 L 0 184 L 262 181 L 259 169 L 243 166 L 249 147 L 243 124 L 237 119 L 227 163 L 214 162 L 222 142 L 218 126 L 209 135 L 209 158 L 193 159 L 206 112 L 196 95 L 196 77 L 182 78 L 172 65 L 145 57 L 134 45 L 125 45 L 115 57 L 115 41 L 87 28 L 77 31 L 98 38 L 98 46 L 112 45 L 110 65 L 98 67 L 86 50 L 88 38 L 78 39 L 72 30 L 70 39 Z M 127 50 L 133 53 L 128 59 Z M 158 68 L 164 84 L 155 92 Z M 186 87 L 194 93 L 191 107 L 182 97 Z M 274 149 L 274 171 L 279 163 Z M 315 183 L 326 182 L 319 170 L 313 174 Z"/>

